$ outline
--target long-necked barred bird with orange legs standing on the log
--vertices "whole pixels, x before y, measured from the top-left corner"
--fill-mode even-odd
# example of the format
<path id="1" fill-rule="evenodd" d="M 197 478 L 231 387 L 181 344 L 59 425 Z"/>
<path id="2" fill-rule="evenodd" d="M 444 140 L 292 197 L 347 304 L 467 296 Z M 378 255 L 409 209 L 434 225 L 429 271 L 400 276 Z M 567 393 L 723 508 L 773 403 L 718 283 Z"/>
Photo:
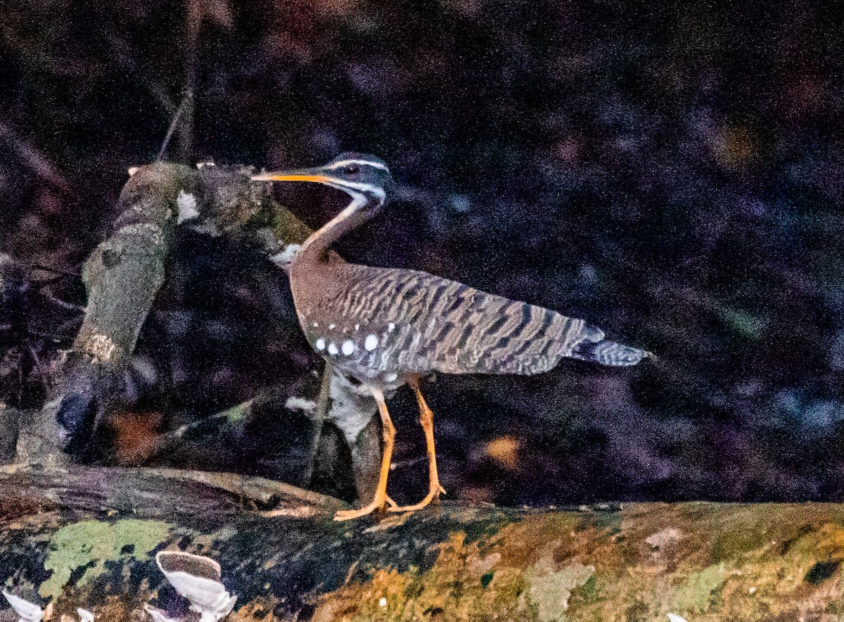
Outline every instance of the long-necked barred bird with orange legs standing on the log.
<path id="1" fill-rule="evenodd" d="M 523 374 L 548 371 L 564 358 L 609 366 L 652 356 L 604 338 L 586 321 L 542 306 L 489 294 L 451 279 L 403 268 L 346 262 L 333 245 L 387 204 L 392 175 L 370 154 L 348 152 L 327 165 L 264 172 L 254 181 L 304 181 L 345 192 L 349 204 L 313 232 L 289 265 L 302 331 L 317 354 L 371 392 L 381 415 L 383 454 L 373 499 L 338 511 L 337 521 L 373 511 L 417 511 L 445 494 L 436 468 L 433 413 L 419 381 L 432 373 Z M 419 503 L 398 506 L 387 495 L 396 430 L 385 402 L 407 384 L 425 431 L 429 489 Z"/>

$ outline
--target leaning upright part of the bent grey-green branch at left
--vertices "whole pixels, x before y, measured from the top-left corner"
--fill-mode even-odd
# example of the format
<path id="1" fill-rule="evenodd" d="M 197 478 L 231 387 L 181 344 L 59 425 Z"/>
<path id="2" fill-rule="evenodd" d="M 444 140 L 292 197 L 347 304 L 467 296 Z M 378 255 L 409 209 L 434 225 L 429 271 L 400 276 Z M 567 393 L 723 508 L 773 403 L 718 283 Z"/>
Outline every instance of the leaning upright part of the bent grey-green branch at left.
<path id="1" fill-rule="evenodd" d="M 82 327 L 44 408 L 21 428 L 18 462 L 89 457 L 95 427 L 122 388 L 138 333 L 164 283 L 178 197 L 198 187 L 196 170 L 160 162 L 141 167 L 123 187 L 111 236 L 84 263 Z"/>

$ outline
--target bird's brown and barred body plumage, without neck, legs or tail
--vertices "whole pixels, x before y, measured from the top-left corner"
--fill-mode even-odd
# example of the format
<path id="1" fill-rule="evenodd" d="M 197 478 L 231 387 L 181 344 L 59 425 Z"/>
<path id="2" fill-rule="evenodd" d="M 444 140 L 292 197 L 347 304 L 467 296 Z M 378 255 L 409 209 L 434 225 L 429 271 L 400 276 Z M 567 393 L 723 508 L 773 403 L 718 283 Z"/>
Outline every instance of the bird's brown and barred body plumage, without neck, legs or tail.
<path id="1" fill-rule="evenodd" d="M 311 344 L 323 338 L 340 349 L 352 340 L 354 354 L 338 355 L 338 363 L 371 377 L 536 374 L 579 343 L 603 338 L 583 320 L 418 270 L 332 262 L 294 277 L 300 322 Z M 303 288 L 309 291 L 304 299 Z M 367 350 L 370 335 L 378 343 Z"/>

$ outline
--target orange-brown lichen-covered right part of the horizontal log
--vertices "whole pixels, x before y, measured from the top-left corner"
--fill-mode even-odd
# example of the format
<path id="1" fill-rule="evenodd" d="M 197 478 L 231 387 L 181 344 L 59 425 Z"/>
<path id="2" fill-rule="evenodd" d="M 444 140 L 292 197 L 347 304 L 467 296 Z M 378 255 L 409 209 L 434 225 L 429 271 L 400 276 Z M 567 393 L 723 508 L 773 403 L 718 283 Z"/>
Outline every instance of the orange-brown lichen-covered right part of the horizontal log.
<path id="1" fill-rule="evenodd" d="M 835 506 L 715 504 L 528 515 L 479 542 L 452 533 L 427 570 L 372 571 L 323 595 L 314 619 L 837 622 L 842 518 Z"/>

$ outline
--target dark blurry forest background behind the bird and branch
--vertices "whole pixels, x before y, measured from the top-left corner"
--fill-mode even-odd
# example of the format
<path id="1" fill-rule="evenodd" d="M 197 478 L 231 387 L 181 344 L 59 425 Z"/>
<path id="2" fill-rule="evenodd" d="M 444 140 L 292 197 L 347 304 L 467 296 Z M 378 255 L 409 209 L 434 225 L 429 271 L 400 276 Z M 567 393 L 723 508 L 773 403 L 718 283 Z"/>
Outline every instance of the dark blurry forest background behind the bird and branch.
<path id="1" fill-rule="evenodd" d="M 389 162 L 398 197 L 344 241 L 349 260 L 586 317 L 659 355 L 441 376 L 426 393 L 450 496 L 844 500 L 840 8 L 654 4 L 0 3 L 0 249 L 78 272 L 192 79 L 193 161 Z M 311 225 L 344 198 L 279 197 Z M 133 366 L 136 435 L 319 368 L 271 264 L 200 235 L 181 248 Z M 84 303 L 73 276 L 47 290 Z M 73 336 L 33 323 L 3 325 L 0 397 L 24 405 Z M 415 500 L 409 392 L 392 412 L 391 495 Z M 128 438 L 122 461 L 142 460 Z M 264 449 L 218 466 L 265 472 Z"/>

